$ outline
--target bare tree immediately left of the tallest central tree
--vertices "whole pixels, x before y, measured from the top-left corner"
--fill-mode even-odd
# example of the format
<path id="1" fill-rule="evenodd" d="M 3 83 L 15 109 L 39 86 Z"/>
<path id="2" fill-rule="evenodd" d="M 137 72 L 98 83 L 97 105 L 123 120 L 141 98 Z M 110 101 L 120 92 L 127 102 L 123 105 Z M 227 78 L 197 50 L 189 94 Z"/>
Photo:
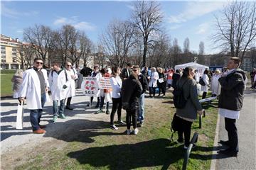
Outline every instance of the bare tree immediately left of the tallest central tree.
<path id="1" fill-rule="evenodd" d="M 100 45 L 111 64 L 119 67 L 127 62 L 129 48 L 133 45 L 134 27 L 128 21 L 112 21 L 100 38 Z"/>

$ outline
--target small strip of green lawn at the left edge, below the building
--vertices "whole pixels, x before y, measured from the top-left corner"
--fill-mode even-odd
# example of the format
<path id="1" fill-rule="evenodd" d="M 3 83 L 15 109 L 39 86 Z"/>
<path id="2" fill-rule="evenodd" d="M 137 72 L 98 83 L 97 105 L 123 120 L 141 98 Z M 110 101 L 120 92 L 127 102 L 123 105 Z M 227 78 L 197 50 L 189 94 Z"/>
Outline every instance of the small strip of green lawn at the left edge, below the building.
<path id="1" fill-rule="evenodd" d="M 11 96 L 13 94 L 11 78 L 14 73 L 1 73 L 1 96 Z"/>

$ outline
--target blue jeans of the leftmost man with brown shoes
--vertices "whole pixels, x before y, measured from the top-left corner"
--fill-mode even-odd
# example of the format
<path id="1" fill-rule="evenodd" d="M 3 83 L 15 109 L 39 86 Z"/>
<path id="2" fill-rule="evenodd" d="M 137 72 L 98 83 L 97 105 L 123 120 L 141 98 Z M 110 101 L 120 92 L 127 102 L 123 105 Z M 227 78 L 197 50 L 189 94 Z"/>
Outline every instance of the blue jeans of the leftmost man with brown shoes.
<path id="1" fill-rule="evenodd" d="M 41 109 L 33 109 L 30 110 L 31 114 L 30 114 L 30 119 L 31 119 L 31 125 L 32 125 L 32 129 L 34 130 L 38 130 L 39 128 L 39 123 L 40 123 L 40 119 L 43 113 L 43 106 L 46 103 L 46 93 L 41 94 Z"/>

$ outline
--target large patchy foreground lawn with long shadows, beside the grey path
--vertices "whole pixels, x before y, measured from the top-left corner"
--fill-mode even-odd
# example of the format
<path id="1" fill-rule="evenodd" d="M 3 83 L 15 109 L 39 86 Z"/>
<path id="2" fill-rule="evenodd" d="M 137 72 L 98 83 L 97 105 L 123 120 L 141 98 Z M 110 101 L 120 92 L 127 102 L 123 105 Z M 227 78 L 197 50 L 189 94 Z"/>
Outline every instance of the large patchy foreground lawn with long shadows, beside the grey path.
<path id="1" fill-rule="evenodd" d="M 182 169 L 185 149 L 169 140 L 175 112 L 171 94 L 154 101 L 146 103 L 146 122 L 138 135 L 124 135 L 125 126 L 110 130 L 109 123 L 101 121 L 85 130 L 78 129 L 78 134 L 68 138 L 65 147 L 31 155 L 28 162 L 16 169 Z M 202 129 L 198 128 L 198 121 L 192 125 L 191 138 L 193 132 L 199 136 L 187 169 L 210 169 L 218 118 L 216 104 L 214 101 L 204 106 L 206 118 Z M 174 140 L 177 139 L 175 134 Z"/>

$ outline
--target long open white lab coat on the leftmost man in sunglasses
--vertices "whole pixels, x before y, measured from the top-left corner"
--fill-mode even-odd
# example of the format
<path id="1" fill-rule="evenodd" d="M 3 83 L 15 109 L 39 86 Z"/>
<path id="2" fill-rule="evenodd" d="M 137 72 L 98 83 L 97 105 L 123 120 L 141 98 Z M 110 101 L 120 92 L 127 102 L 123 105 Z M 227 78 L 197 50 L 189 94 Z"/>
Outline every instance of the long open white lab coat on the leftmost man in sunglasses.
<path id="1" fill-rule="evenodd" d="M 47 71 L 46 69 L 41 69 L 43 72 L 43 77 L 45 79 L 45 84 L 49 87 Z M 42 109 L 41 104 L 41 86 L 38 74 L 31 68 L 27 69 L 23 73 L 23 81 L 21 84 L 21 89 L 19 90 L 20 97 L 26 97 L 27 108 L 30 110 Z"/>

